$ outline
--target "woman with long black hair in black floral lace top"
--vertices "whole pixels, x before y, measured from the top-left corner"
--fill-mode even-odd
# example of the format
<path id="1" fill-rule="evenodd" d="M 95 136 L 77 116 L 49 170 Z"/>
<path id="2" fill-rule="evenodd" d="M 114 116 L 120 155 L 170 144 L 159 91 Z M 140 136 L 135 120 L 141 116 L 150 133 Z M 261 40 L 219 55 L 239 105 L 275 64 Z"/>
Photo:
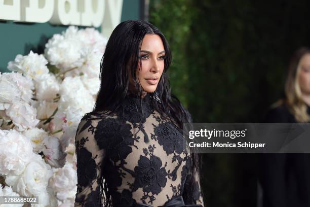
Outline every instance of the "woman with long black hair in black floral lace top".
<path id="1" fill-rule="evenodd" d="M 76 131 L 75 206 L 203 205 L 199 156 L 182 136 L 191 117 L 170 93 L 170 63 L 152 24 L 129 20 L 113 30 L 95 108 Z"/>

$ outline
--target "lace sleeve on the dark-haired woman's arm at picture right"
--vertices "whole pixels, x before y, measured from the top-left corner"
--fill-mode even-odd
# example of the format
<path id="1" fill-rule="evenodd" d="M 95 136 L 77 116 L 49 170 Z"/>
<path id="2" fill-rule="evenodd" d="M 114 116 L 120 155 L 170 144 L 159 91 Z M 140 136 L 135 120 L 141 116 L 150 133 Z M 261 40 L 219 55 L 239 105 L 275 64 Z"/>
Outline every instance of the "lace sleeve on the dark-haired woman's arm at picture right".
<path id="1" fill-rule="evenodd" d="M 200 176 L 198 173 L 196 174 L 196 176 L 189 174 L 186 177 L 183 197 L 185 198 L 185 204 L 201 204 L 202 206 L 204 206 L 204 200 L 200 185 Z"/>

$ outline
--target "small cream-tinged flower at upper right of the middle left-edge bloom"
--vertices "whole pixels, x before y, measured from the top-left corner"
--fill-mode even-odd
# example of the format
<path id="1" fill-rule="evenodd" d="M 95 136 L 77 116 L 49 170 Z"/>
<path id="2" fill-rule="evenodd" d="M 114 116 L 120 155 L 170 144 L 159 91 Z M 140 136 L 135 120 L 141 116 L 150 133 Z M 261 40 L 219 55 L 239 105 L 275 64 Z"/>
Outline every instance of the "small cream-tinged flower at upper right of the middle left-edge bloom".
<path id="1" fill-rule="evenodd" d="M 33 152 L 40 153 L 45 149 L 44 138 L 48 136 L 48 133 L 39 128 L 32 128 L 22 132 L 30 141 L 33 147 Z"/>

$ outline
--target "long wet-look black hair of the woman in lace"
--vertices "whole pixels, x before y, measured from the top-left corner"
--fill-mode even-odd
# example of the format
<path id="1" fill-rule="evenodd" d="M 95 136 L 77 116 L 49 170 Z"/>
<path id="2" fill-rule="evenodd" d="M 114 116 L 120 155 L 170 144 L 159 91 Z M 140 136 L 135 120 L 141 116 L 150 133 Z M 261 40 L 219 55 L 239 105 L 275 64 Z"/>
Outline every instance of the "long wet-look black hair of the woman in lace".
<path id="1" fill-rule="evenodd" d="M 100 63 L 100 90 L 97 95 L 96 104 L 93 112 L 102 116 L 110 115 L 116 112 L 125 99 L 129 91 L 130 74 L 134 82 L 134 87 L 140 97 L 143 89 L 139 83 L 136 70 L 139 65 L 140 49 L 145 34 L 157 34 L 163 41 L 166 55 L 164 57 L 164 71 L 154 92 L 160 101 L 153 99 L 154 110 L 168 118 L 176 127 L 183 128 L 183 122 L 190 122 L 189 113 L 183 108 L 179 99 L 171 94 L 170 82 L 167 71 L 171 64 L 171 51 L 164 34 L 154 25 L 139 20 L 128 20 L 121 22 L 113 30 Z M 141 65 L 141 64 L 140 64 Z M 141 67 L 140 67 L 141 68 Z M 140 70 L 139 68 L 139 70 Z M 142 107 L 142 105 L 141 105 Z M 143 114 L 143 113 L 142 113 Z M 87 116 L 87 115 L 85 115 Z M 200 171 L 200 156 L 197 153 L 191 153 L 192 157 L 192 175 Z M 102 178 L 104 179 L 104 178 Z M 107 179 L 107 178 L 105 178 Z M 194 189 L 195 177 L 189 182 L 188 189 Z M 107 189 L 106 183 L 101 185 L 101 193 L 104 198 L 104 206 L 112 204 L 111 195 Z M 186 192 L 190 195 L 190 192 Z M 184 200 L 186 200 L 186 195 Z M 188 198 L 189 199 L 189 198 Z"/>

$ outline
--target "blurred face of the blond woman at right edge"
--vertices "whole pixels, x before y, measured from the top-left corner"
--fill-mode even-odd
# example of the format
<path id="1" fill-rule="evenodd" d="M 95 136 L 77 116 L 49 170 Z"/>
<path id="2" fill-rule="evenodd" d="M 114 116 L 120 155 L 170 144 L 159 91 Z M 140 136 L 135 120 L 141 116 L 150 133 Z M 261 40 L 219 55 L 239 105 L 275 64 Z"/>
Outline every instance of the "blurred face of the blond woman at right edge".
<path id="1" fill-rule="evenodd" d="M 310 54 L 305 54 L 300 59 L 298 81 L 301 92 L 310 95 Z"/>

